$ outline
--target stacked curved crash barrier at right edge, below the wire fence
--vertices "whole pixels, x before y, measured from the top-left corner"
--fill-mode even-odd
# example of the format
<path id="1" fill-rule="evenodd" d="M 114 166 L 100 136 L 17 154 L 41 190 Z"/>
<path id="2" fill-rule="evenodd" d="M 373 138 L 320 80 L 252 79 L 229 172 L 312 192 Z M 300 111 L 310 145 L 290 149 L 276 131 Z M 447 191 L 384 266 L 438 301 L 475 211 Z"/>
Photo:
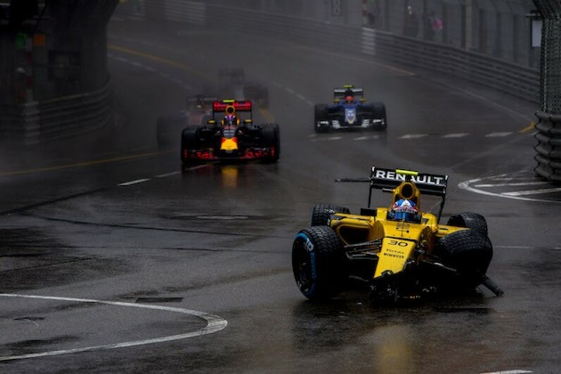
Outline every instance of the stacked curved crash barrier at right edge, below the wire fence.
<path id="1" fill-rule="evenodd" d="M 536 113 L 540 122 L 536 125 L 536 173 L 552 182 L 561 182 L 561 115 Z"/>

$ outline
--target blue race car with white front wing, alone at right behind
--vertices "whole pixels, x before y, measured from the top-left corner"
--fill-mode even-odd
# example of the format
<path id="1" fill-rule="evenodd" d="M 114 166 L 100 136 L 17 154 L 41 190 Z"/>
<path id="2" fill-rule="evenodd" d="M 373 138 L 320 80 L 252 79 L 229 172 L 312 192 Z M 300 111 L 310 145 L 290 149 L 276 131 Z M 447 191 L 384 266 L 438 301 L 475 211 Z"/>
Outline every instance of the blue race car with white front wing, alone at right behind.
<path id="1" fill-rule="evenodd" d="M 316 132 L 332 129 L 386 130 L 387 126 L 386 106 L 383 103 L 366 104 L 364 90 L 352 85 L 333 89 L 333 105 L 314 106 Z"/>

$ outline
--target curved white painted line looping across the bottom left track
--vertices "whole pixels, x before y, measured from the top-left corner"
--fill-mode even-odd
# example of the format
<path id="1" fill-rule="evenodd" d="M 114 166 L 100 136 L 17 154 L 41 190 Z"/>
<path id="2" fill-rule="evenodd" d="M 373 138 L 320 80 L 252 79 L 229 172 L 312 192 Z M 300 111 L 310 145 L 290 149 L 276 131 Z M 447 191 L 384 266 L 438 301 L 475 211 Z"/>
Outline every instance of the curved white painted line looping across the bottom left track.
<path id="1" fill-rule="evenodd" d="M 185 332 L 184 334 L 178 335 L 168 335 L 166 337 L 157 337 L 154 339 L 144 339 L 144 340 L 132 340 L 130 342 L 122 342 L 115 344 L 102 344 L 91 347 L 82 347 L 74 349 L 61 349 L 59 351 L 45 351 L 35 354 L 21 354 L 18 356 L 4 356 L 0 357 L 0 361 L 11 361 L 11 360 L 21 360 L 21 359 L 34 359 L 37 357 L 45 356 L 60 356 L 63 354 L 74 354 L 78 352 L 85 351 L 99 351 L 102 349 L 116 349 L 124 347 L 135 347 L 145 344 L 155 344 L 162 342 L 171 342 L 173 340 L 187 339 L 190 337 L 198 337 L 201 335 L 212 334 L 213 332 L 218 332 L 223 330 L 228 325 L 228 321 L 215 316 L 214 314 L 204 313 L 201 311 L 192 311 L 190 309 L 183 308 L 173 308 L 170 306 L 160 306 L 160 305 L 147 305 L 147 304 L 134 304 L 134 303 L 124 303 L 121 301 L 106 301 L 106 300 L 95 300 L 95 299 L 75 299 L 73 297 L 54 297 L 54 296 L 38 296 L 38 295 L 26 295 L 26 294 L 0 294 L 0 297 L 23 297 L 25 299 L 43 299 L 43 300 L 59 300 L 59 301 L 75 301 L 79 303 L 89 303 L 89 304 L 106 304 L 112 306 L 126 306 L 132 308 L 143 308 L 143 309 L 153 309 L 157 311 L 170 311 L 173 313 L 183 313 L 189 316 L 195 316 L 197 318 L 202 318 L 206 320 L 206 326 L 200 330 Z"/>

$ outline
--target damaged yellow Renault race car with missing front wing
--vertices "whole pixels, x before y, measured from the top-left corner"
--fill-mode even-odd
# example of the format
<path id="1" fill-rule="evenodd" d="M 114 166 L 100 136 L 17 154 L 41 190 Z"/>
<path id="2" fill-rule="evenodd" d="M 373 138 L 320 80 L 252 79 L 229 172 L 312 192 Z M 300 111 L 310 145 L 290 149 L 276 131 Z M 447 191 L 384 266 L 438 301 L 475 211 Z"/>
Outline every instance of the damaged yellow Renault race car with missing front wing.
<path id="1" fill-rule="evenodd" d="M 395 302 L 424 294 L 473 291 L 485 285 L 503 294 L 486 276 L 493 256 L 487 223 L 476 213 L 442 215 L 448 175 L 372 167 L 368 208 L 319 204 L 312 225 L 292 245 L 296 284 L 309 299 L 329 299 L 357 282 L 371 299 Z M 391 192 L 389 206 L 371 208 L 372 191 Z M 438 215 L 421 210 L 421 194 L 440 197 Z M 357 282 L 352 282 L 352 280 Z"/>

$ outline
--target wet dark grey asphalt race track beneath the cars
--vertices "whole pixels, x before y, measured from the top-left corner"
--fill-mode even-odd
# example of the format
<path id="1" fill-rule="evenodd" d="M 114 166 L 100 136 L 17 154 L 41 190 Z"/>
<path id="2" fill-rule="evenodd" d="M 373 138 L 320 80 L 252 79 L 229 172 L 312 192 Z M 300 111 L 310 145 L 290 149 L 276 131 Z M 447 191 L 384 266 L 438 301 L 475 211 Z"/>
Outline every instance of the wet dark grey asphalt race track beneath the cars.
<path id="1" fill-rule="evenodd" d="M 0 371 L 558 370 L 561 194 L 536 193 L 551 187 L 531 173 L 534 104 L 336 52 L 137 26 L 111 25 L 115 129 L 25 156 L 2 150 Z M 225 66 L 268 85 L 257 118 L 280 124 L 280 161 L 182 173 L 177 147 L 156 147 L 156 117 Z M 386 103 L 386 136 L 314 135 L 313 103 L 345 84 Z M 372 165 L 450 175 L 445 219 L 486 216 L 488 275 L 505 296 L 306 301 L 292 238 L 314 204 L 364 206 L 366 186 L 333 181 Z"/>

